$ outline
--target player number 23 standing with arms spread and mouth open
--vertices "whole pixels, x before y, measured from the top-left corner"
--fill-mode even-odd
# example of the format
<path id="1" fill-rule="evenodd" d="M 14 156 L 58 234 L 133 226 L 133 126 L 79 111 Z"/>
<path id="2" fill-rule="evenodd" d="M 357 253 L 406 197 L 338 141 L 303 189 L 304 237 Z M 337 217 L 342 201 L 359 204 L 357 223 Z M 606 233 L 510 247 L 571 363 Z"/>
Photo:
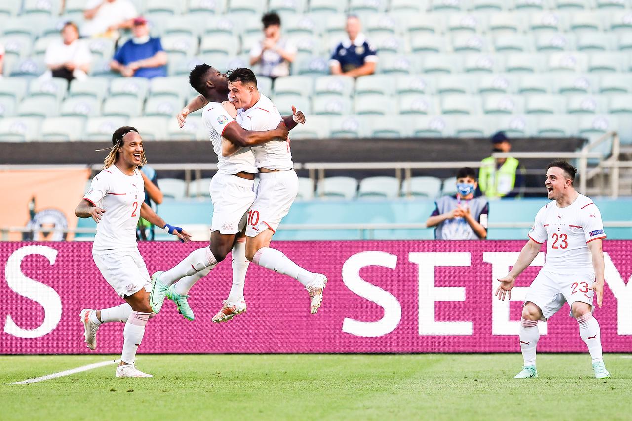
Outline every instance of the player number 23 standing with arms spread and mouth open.
<path id="1" fill-rule="evenodd" d="M 525 365 L 516 379 L 538 377 L 535 347 L 540 339 L 538 320 L 547 320 L 562 308 L 571 306 L 571 315 L 580 326 L 581 339 L 588 346 L 597 379 L 606 379 L 599 322 L 592 315 L 593 295 L 597 304 L 604 298 L 604 223 L 593 201 L 576 192 L 573 181 L 577 170 L 568 162 L 554 161 L 547 166 L 544 185 L 552 200 L 535 216 L 529 241 L 518 255 L 509 274 L 498 279 L 495 295 L 511 298 L 516 278 L 531 264 L 547 242 L 546 262 L 525 297 L 520 320 L 520 348 Z"/>

